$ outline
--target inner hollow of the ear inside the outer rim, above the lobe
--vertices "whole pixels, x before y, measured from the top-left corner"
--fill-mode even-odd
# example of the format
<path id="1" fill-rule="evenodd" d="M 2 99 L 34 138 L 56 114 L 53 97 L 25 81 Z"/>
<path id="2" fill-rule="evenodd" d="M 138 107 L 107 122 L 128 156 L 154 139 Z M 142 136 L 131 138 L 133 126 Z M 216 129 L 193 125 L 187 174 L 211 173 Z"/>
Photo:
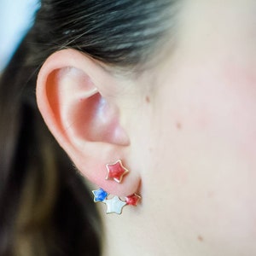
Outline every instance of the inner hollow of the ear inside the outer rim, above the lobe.
<path id="1" fill-rule="evenodd" d="M 46 94 L 60 130 L 73 145 L 129 143 L 119 125 L 119 110 L 82 70 L 64 67 L 49 75 Z"/>

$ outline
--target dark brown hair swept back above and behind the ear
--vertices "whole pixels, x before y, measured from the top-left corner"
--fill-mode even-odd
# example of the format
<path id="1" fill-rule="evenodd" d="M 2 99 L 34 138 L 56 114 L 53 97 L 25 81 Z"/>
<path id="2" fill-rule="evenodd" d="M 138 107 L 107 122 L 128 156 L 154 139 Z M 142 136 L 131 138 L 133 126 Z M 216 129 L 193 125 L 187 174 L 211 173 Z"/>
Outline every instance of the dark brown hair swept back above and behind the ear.
<path id="1" fill-rule="evenodd" d="M 38 69 L 66 48 L 134 68 L 163 38 L 172 2 L 42 1 L 0 82 L 0 255 L 100 255 L 91 193 L 38 113 Z"/>

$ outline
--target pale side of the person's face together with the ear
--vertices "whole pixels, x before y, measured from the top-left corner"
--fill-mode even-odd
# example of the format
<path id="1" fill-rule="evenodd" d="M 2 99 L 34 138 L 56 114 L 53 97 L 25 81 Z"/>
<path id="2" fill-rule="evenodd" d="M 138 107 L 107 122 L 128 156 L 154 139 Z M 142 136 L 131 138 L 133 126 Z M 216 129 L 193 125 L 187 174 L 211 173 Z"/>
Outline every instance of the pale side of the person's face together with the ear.
<path id="1" fill-rule="evenodd" d="M 113 237 L 130 229 L 148 255 L 256 254 L 255 9 L 184 0 L 175 49 L 137 79 L 73 49 L 44 62 L 38 108 L 74 165 L 110 194 L 143 196 L 106 220 Z M 117 159 L 131 172 L 106 182 Z"/>

